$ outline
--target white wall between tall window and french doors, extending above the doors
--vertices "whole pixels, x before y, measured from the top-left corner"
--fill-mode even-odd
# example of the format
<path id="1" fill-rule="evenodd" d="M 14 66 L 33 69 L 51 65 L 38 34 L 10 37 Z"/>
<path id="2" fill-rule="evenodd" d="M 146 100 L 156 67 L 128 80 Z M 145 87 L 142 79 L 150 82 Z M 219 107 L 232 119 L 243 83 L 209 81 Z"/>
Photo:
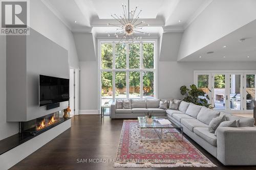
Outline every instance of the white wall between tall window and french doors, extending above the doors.
<path id="1" fill-rule="evenodd" d="M 194 70 L 255 70 L 256 62 L 158 62 L 158 98 L 181 99 L 180 87 L 194 84 Z"/>

